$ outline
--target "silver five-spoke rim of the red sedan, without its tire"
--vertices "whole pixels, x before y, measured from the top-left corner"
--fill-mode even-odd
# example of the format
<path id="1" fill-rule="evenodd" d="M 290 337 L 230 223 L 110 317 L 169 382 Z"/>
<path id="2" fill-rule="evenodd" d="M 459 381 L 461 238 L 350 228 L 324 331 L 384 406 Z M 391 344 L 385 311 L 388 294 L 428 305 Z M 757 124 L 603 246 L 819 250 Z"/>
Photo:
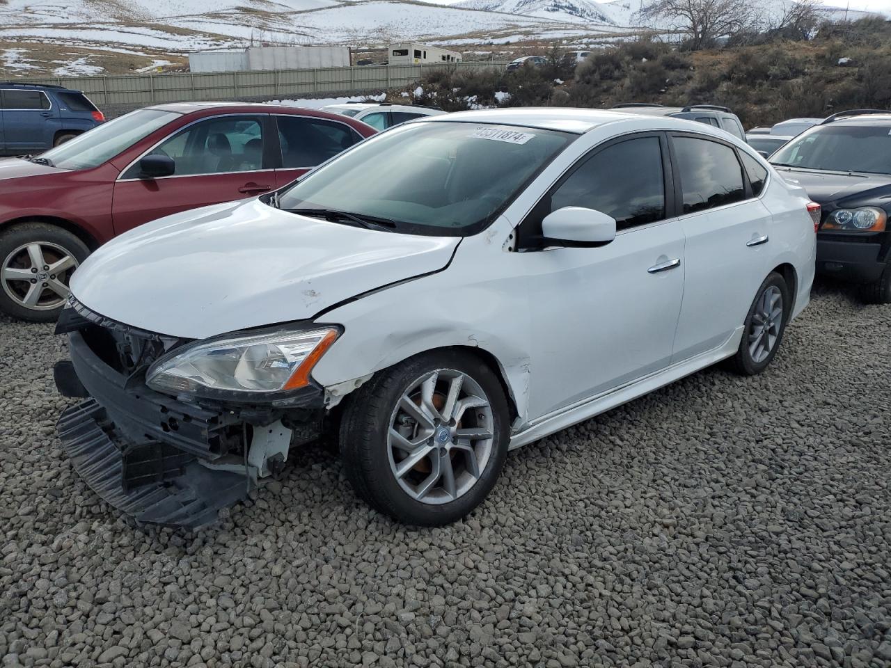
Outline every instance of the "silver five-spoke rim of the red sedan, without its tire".
<path id="1" fill-rule="evenodd" d="M 61 246 L 35 241 L 15 248 L 0 266 L 6 296 L 34 311 L 50 311 L 68 297 L 68 281 L 78 260 Z"/>

